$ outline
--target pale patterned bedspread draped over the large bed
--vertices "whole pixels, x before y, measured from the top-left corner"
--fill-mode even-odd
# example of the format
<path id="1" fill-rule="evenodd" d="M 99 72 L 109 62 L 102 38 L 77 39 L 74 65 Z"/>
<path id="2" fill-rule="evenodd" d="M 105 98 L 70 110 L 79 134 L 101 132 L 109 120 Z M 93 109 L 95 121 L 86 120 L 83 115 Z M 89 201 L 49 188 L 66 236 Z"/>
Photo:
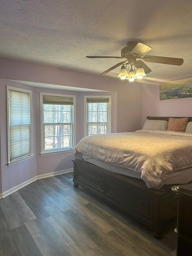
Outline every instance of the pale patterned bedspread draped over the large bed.
<path id="1" fill-rule="evenodd" d="M 141 173 L 148 188 L 161 188 L 168 174 L 192 166 L 192 134 L 139 130 L 84 137 L 77 152 Z M 79 154 L 78 154 L 79 156 Z M 78 157 L 79 158 L 79 157 Z"/>

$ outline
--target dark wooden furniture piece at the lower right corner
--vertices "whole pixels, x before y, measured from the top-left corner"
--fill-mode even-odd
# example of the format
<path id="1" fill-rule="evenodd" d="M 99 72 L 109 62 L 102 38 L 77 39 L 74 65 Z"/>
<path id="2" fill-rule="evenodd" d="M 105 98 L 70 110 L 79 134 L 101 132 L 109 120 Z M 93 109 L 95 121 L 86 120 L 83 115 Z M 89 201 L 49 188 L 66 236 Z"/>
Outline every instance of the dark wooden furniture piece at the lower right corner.
<path id="1" fill-rule="evenodd" d="M 172 187 L 177 206 L 177 256 L 192 256 L 192 184 Z"/>

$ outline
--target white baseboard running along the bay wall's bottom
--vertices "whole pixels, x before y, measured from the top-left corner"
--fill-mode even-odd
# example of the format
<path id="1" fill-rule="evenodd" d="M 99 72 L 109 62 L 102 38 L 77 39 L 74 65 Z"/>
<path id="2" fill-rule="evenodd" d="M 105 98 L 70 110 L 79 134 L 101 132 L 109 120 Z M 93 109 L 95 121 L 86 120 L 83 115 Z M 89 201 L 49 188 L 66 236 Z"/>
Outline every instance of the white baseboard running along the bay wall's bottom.
<path id="1" fill-rule="evenodd" d="M 27 181 L 24 181 L 22 182 L 21 184 L 3 192 L 0 194 L 0 199 L 1 198 L 4 198 L 10 194 L 12 194 L 13 192 L 17 191 L 18 189 L 20 188 L 23 188 L 25 187 L 26 185 L 30 184 L 31 182 L 37 180 L 37 179 L 43 179 L 43 178 L 47 178 L 47 177 L 51 177 L 51 176 L 56 176 L 56 175 L 59 175 L 59 174 L 63 174 L 63 173 L 68 173 L 68 172 L 72 172 L 73 171 L 73 168 L 71 169 L 66 169 L 66 170 L 61 170 L 61 171 L 58 171 L 58 172 L 50 172 L 50 173 L 45 173 L 45 174 L 41 174 L 41 175 L 37 175 Z"/>

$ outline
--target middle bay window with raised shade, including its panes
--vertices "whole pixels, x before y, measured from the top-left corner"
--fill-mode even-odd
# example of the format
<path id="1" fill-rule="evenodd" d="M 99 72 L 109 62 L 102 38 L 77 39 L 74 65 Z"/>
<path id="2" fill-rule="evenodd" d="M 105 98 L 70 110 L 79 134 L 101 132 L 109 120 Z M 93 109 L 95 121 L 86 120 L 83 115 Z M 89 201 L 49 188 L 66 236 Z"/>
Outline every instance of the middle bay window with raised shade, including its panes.
<path id="1" fill-rule="evenodd" d="M 41 93 L 41 154 L 74 148 L 75 96 Z"/>

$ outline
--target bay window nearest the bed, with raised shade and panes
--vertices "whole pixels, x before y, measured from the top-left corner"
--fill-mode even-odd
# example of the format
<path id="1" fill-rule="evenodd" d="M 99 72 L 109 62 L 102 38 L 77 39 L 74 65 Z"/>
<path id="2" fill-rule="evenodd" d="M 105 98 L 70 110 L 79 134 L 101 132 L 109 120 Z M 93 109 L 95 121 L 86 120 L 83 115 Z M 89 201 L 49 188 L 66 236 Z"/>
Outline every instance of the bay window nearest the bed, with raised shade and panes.
<path id="1" fill-rule="evenodd" d="M 85 96 L 84 135 L 111 132 L 111 96 Z"/>

